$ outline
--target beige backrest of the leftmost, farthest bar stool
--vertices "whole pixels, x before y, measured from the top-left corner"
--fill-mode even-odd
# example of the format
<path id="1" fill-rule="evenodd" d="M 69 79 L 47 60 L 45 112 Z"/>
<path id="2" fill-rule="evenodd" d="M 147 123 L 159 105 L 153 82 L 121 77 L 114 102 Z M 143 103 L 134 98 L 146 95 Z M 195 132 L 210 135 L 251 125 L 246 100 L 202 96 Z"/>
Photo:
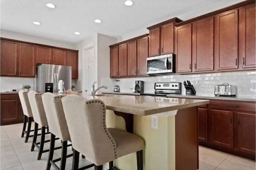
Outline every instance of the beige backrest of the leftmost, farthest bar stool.
<path id="1" fill-rule="evenodd" d="M 20 97 L 20 103 L 22 106 L 23 114 L 28 117 L 33 117 L 31 107 L 28 101 L 28 92 L 25 92 L 24 90 L 20 90 L 19 97 Z"/>

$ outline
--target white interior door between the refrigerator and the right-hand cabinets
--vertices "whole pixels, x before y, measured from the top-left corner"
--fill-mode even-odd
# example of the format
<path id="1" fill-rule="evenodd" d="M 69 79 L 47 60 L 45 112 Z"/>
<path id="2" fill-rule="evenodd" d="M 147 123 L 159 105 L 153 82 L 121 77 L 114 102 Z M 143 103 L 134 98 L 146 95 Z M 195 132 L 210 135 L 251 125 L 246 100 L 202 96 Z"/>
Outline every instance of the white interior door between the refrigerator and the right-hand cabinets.
<path id="1" fill-rule="evenodd" d="M 87 94 L 92 93 L 92 83 L 95 81 L 95 62 L 94 62 L 94 45 L 84 49 L 85 52 L 85 68 L 83 69 L 84 91 Z"/>

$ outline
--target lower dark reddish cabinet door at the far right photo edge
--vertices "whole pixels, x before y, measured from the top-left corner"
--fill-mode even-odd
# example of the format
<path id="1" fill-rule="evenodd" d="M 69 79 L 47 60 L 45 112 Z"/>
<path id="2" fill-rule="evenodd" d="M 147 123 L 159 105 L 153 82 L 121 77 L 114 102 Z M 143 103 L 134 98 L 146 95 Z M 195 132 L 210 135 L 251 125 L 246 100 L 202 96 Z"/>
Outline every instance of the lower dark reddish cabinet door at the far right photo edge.
<path id="1" fill-rule="evenodd" d="M 255 114 L 237 113 L 238 150 L 255 155 Z"/>

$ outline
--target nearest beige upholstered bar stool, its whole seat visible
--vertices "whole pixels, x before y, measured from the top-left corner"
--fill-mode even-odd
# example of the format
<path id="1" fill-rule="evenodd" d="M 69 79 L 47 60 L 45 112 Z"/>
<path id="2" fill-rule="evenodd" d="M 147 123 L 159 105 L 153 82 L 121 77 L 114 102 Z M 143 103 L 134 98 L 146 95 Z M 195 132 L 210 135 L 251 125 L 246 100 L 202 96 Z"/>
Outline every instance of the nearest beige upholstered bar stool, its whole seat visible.
<path id="1" fill-rule="evenodd" d="M 102 170 L 106 162 L 110 162 L 112 170 L 113 160 L 137 152 L 137 167 L 143 170 L 143 140 L 120 129 L 106 128 L 106 106 L 102 100 L 87 100 L 78 95 L 61 100 L 72 140 L 72 170 L 78 169 L 78 152 L 95 164 L 95 170 Z"/>

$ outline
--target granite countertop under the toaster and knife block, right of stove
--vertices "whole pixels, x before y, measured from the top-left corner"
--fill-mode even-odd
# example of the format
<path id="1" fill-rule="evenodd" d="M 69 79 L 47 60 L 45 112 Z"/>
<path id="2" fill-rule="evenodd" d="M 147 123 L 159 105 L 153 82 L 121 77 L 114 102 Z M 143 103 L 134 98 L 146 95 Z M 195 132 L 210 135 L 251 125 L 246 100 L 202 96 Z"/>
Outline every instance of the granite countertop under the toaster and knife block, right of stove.
<path id="1" fill-rule="evenodd" d="M 242 102 L 256 102 L 256 97 L 253 96 L 214 96 L 214 95 L 177 95 L 168 94 L 168 98 L 193 98 L 193 99 L 206 99 L 206 100 L 232 100 Z"/>

